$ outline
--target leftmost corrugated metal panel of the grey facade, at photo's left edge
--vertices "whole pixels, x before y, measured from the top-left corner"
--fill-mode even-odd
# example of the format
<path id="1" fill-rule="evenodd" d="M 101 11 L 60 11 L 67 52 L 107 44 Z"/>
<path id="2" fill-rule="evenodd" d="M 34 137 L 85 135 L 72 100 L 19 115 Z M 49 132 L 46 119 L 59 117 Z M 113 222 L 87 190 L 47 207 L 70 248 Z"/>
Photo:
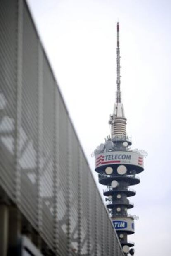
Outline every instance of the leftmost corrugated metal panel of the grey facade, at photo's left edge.
<path id="1" fill-rule="evenodd" d="M 0 2 L 0 185 L 14 199 L 17 0 Z M 3 36 L 2 36 L 3 35 Z"/>

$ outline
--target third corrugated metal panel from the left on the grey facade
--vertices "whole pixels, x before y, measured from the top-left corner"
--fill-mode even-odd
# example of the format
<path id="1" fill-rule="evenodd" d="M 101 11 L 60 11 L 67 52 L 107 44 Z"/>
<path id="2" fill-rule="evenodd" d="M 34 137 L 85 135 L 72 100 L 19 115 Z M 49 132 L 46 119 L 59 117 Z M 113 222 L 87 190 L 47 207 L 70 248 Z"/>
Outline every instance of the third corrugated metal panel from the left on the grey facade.
<path id="1" fill-rule="evenodd" d="M 42 174 L 41 196 L 42 233 L 48 244 L 53 247 L 54 194 L 53 194 L 53 164 L 54 164 L 54 86 L 50 67 L 43 56 L 43 145 L 42 145 Z"/>

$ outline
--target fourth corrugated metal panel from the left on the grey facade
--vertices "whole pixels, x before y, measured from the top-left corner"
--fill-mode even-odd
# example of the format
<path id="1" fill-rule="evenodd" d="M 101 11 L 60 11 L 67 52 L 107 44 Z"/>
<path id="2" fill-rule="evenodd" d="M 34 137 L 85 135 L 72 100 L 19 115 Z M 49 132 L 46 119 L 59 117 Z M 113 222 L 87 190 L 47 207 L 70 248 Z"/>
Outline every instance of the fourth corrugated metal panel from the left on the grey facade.
<path id="1" fill-rule="evenodd" d="M 68 228 L 68 116 L 62 98 L 59 97 L 59 164 L 58 164 L 58 223 L 59 223 L 59 255 L 67 255 L 67 228 Z"/>

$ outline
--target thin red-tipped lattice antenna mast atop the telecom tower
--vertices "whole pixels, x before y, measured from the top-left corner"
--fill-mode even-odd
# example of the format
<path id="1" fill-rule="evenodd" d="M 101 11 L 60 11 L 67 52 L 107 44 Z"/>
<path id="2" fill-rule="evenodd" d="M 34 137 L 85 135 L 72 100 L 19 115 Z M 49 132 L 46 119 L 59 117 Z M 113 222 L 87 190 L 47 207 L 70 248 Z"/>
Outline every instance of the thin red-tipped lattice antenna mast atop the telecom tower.
<path id="1" fill-rule="evenodd" d="M 117 22 L 117 48 L 116 48 L 116 71 L 117 71 L 117 92 L 116 92 L 116 102 L 121 103 L 121 91 L 120 91 L 120 48 L 119 48 L 119 22 Z"/>

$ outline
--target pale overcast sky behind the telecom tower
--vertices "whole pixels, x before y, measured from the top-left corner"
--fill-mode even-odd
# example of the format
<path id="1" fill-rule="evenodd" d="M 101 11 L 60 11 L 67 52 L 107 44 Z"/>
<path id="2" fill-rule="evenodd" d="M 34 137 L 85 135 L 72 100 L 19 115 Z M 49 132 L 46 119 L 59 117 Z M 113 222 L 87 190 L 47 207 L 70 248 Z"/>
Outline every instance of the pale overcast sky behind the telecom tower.
<path id="1" fill-rule="evenodd" d="M 121 91 L 132 148 L 148 152 L 130 198 L 138 215 L 136 256 L 171 255 L 171 1 L 28 0 L 90 167 L 110 133 L 116 91 L 116 22 Z"/>

